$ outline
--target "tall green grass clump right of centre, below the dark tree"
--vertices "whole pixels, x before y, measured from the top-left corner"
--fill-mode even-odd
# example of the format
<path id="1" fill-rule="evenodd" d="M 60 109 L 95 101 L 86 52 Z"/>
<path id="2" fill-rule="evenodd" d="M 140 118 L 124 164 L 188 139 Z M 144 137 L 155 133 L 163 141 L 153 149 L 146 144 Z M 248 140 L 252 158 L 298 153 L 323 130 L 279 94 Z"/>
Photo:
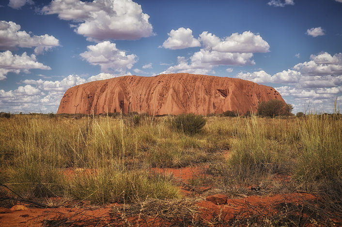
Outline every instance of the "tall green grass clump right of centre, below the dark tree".
<path id="1" fill-rule="evenodd" d="M 252 173 L 280 173 L 288 170 L 286 164 L 291 159 L 291 147 L 268 138 L 269 125 L 255 115 L 236 121 L 237 138 L 232 143 L 229 163 L 241 170 L 241 176 Z M 277 129 L 281 130 L 281 129 Z"/>

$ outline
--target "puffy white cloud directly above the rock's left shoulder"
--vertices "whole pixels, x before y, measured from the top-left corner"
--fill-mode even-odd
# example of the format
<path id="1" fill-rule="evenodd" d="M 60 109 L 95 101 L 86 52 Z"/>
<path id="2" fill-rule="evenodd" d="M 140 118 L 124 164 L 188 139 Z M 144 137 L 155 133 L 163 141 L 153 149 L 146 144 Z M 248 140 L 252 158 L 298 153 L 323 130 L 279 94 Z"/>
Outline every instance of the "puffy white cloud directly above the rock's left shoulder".
<path id="1" fill-rule="evenodd" d="M 119 50 L 115 43 L 109 41 L 87 46 L 87 49 L 80 56 L 92 65 L 99 65 L 102 72 L 124 72 L 131 69 L 138 58 L 134 54 L 126 55 L 125 51 Z"/>

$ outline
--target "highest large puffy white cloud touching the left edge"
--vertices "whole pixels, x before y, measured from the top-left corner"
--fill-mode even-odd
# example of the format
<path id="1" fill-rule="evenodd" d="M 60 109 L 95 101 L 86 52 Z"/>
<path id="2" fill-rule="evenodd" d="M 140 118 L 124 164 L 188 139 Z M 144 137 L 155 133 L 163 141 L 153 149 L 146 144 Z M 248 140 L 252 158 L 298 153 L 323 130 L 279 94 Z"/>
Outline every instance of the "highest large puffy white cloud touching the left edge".
<path id="1" fill-rule="evenodd" d="M 12 21 L 0 21 L 0 50 L 16 47 L 35 47 L 35 54 L 42 54 L 53 47 L 60 46 L 59 40 L 51 35 L 33 35 L 20 31 L 20 25 Z"/>

